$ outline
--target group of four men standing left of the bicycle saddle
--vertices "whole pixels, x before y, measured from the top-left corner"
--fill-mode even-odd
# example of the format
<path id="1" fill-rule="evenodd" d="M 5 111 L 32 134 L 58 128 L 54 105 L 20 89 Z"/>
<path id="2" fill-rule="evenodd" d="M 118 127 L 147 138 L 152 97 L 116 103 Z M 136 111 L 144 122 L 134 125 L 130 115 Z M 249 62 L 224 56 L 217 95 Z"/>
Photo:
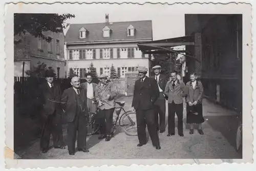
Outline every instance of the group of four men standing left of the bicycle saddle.
<path id="1" fill-rule="evenodd" d="M 60 86 L 54 82 L 54 73 L 47 70 L 46 81 L 40 85 L 39 99 L 43 120 L 40 147 L 42 153 L 49 150 L 50 135 L 53 136 L 54 148 L 65 149 L 63 142 L 61 117 L 68 123 L 68 151 L 75 155 L 75 142 L 79 152 L 89 152 L 86 148 L 88 114 L 100 108 L 96 124 L 100 124 L 99 139 L 110 140 L 112 118 L 117 92 L 106 75 L 100 75 L 99 84 L 92 82 L 92 75 L 86 76 L 87 82 L 80 83 L 79 77 L 71 79 L 71 88 L 61 93 Z M 97 103 L 96 103 L 97 102 Z"/>

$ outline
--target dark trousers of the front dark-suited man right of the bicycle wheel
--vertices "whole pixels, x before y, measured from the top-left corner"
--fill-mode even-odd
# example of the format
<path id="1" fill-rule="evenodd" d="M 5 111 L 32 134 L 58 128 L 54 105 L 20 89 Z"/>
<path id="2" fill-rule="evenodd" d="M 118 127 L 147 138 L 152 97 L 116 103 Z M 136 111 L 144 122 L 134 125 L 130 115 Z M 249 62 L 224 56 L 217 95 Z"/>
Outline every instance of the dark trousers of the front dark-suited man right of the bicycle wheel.
<path id="1" fill-rule="evenodd" d="M 155 122 L 154 109 L 136 110 L 137 132 L 139 143 L 146 143 L 146 125 L 148 133 L 154 146 L 160 145 Z"/>

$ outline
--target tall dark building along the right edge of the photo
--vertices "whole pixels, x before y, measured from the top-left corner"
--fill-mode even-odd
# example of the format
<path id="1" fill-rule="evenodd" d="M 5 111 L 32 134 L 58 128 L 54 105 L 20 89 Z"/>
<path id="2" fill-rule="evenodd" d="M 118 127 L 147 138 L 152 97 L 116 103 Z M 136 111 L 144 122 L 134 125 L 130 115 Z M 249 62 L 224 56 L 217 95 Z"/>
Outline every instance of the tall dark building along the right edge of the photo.
<path id="1" fill-rule="evenodd" d="M 201 63 L 187 60 L 188 72 L 199 69 L 205 95 L 242 112 L 242 14 L 187 14 L 185 26 L 201 51 Z"/>

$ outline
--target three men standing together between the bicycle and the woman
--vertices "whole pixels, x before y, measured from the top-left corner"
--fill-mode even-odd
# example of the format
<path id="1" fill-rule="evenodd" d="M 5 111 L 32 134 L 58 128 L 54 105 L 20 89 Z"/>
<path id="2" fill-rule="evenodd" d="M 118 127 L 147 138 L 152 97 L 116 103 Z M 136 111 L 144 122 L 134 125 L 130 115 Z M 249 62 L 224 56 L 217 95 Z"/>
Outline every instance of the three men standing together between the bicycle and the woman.
<path id="1" fill-rule="evenodd" d="M 161 66 L 153 67 L 155 75 L 147 77 L 145 67 L 138 68 L 139 78 L 135 82 L 132 106 L 136 110 L 138 146 L 146 144 L 145 127 L 147 125 L 152 144 L 161 149 L 158 131 L 165 132 L 165 107 L 168 100 L 168 134 L 175 135 L 175 113 L 178 116 L 178 134 L 183 137 L 183 97 L 185 84 L 177 79 L 177 73 L 171 73 L 171 79 L 162 74 Z"/>

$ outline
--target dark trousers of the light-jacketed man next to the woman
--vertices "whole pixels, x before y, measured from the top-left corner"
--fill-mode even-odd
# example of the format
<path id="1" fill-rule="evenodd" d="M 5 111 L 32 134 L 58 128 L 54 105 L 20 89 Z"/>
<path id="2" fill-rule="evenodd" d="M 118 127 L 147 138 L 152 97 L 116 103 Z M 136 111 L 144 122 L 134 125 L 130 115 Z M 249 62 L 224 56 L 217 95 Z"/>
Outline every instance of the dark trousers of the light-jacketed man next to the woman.
<path id="1" fill-rule="evenodd" d="M 178 117 L 178 134 L 183 134 L 183 103 L 168 103 L 168 134 L 175 134 L 175 113 Z"/>

